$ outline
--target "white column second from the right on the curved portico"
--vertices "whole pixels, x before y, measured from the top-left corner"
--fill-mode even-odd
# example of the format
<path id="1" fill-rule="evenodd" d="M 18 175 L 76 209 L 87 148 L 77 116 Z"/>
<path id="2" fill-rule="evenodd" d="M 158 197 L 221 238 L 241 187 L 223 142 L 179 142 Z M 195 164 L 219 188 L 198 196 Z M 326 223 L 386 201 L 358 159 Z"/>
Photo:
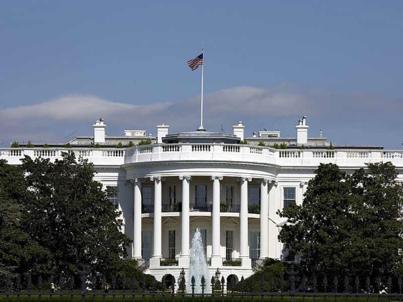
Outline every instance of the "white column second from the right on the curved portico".
<path id="1" fill-rule="evenodd" d="M 242 266 L 251 266 L 248 253 L 248 182 L 251 178 L 241 179 L 241 211 L 239 213 L 239 257 L 242 258 Z"/>

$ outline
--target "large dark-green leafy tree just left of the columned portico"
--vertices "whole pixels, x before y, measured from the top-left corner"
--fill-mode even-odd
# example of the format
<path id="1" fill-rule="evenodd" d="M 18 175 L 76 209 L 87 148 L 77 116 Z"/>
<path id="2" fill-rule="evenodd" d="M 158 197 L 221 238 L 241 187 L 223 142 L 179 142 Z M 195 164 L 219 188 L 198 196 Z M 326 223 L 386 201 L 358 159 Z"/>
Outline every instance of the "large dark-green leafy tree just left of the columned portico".
<path id="1" fill-rule="evenodd" d="M 23 217 L 31 238 L 48 250 L 52 273 L 71 274 L 83 264 L 116 274 L 131 241 L 121 233 L 120 212 L 107 199 L 87 160 L 63 153 L 62 160 L 25 157 L 29 190 Z"/>

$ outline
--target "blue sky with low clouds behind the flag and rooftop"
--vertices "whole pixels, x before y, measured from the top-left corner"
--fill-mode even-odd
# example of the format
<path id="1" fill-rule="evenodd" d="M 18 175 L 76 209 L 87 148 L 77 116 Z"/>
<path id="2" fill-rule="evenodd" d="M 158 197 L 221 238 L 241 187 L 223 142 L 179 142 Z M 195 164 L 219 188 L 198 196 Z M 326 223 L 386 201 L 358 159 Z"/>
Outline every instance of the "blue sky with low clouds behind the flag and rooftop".
<path id="1" fill-rule="evenodd" d="M 401 1 L 2 1 L 0 140 L 108 135 L 238 120 L 335 144 L 401 148 Z M 66 139 L 64 139 L 65 141 Z M 57 141 L 63 141 L 59 139 Z"/>

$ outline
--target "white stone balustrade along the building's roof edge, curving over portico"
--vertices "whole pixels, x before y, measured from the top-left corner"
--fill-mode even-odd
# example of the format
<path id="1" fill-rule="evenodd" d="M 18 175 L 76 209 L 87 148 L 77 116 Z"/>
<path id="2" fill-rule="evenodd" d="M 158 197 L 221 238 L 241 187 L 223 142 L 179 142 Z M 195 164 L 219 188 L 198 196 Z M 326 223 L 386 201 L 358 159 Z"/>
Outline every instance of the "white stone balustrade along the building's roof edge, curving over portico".
<path id="1" fill-rule="evenodd" d="M 251 162 L 280 167 L 315 167 L 333 163 L 341 167 L 362 167 L 365 163 L 390 161 L 403 167 L 403 150 L 382 149 L 274 149 L 221 143 L 151 144 L 130 148 L 0 148 L 0 159 L 20 164 L 24 156 L 60 159 L 62 152 L 74 153 L 94 165 L 122 165 L 153 161 Z"/>

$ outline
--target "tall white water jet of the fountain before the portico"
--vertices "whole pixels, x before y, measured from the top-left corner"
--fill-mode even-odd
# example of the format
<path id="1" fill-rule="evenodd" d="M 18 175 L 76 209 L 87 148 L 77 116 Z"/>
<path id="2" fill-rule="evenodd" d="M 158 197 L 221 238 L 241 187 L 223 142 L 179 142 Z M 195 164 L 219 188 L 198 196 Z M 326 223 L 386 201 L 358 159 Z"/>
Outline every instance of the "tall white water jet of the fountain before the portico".
<path id="1" fill-rule="evenodd" d="M 203 247 L 203 240 L 201 239 L 200 230 L 197 228 L 194 232 L 190 247 L 190 265 L 189 265 L 189 277 L 186 282 L 186 289 L 188 293 L 192 292 L 191 277 L 194 277 L 195 286 L 194 293 L 201 293 L 201 277 L 205 277 L 205 293 L 211 292 L 209 269 L 207 266 L 205 250 Z"/>

